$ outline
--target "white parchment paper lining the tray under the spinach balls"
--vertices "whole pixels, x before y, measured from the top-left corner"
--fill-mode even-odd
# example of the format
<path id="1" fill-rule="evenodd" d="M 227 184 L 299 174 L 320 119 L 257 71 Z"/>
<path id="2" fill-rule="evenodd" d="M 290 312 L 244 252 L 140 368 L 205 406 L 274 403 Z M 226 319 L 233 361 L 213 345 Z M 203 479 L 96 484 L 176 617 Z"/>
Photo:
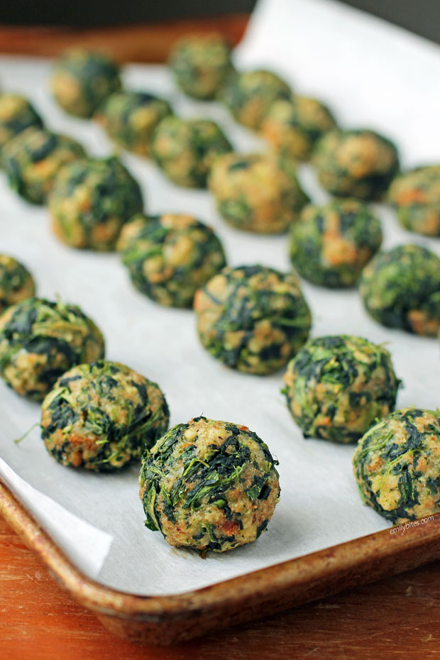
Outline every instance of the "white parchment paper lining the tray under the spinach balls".
<path id="1" fill-rule="evenodd" d="M 297 92 L 328 102 L 342 124 L 370 126 L 391 136 L 401 147 L 404 167 L 439 157 L 439 90 L 432 81 L 437 85 L 440 79 L 440 57 L 434 45 L 420 38 L 327 0 L 266 0 L 258 5 L 236 59 L 239 66 L 280 70 L 295 82 Z M 99 126 L 65 116 L 50 99 L 49 70 L 49 61 L 0 57 L 1 87 L 30 97 L 50 128 L 70 133 L 93 154 L 109 154 L 111 143 Z M 131 65 L 124 82 L 163 94 L 186 116 L 214 117 L 238 150 L 265 148 L 221 107 L 177 94 L 163 67 Z M 123 155 L 123 160 L 141 182 L 148 212 L 186 212 L 207 221 L 224 242 L 231 265 L 289 268 L 286 237 L 234 231 L 216 214 L 207 192 L 175 187 L 136 156 Z M 300 168 L 300 177 L 314 200 L 326 199 L 307 166 Z M 440 255 L 440 241 L 410 234 L 390 210 L 376 209 L 386 248 L 413 241 Z M 16 197 L 3 175 L 0 227 L 1 252 L 28 265 L 39 295 L 57 293 L 81 305 L 104 331 L 106 356 L 159 383 L 171 424 L 199 414 L 246 424 L 280 461 L 282 495 L 268 532 L 254 544 L 202 560 L 191 551 L 172 549 L 158 532 L 143 527 L 138 468 L 119 475 L 63 468 L 46 453 L 38 429 L 14 444 L 38 421 L 39 407 L 0 383 L 0 456 L 11 468 L 0 463 L 0 475 L 40 522 L 50 524 L 50 533 L 79 568 L 133 593 L 182 593 L 387 527 L 361 505 L 351 471 L 353 447 L 302 438 L 280 395 L 282 373 L 258 378 L 226 370 L 199 345 L 192 312 L 160 307 L 133 290 L 117 255 L 62 246 L 50 231 L 47 211 Z M 313 336 L 344 332 L 387 341 L 405 383 L 397 405 L 439 405 L 438 342 L 375 324 L 355 291 L 332 292 L 306 282 L 303 289 L 314 317 Z M 43 499 L 23 487 L 11 470 Z M 56 503 L 56 517 L 47 496 Z"/>

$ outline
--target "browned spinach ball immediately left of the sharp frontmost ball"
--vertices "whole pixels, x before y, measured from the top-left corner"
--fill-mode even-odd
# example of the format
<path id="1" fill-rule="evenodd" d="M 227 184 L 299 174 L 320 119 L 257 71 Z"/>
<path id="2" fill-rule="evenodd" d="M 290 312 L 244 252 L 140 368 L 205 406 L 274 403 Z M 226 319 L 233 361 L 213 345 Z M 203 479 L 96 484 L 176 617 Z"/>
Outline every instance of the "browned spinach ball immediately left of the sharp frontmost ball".
<path id="1" fill-rule="evenodd" d="M 141 458 L 168 428 L 160 387 L 119 362 L 80 364 L 41 407 L 48 452 L 64 466 L 113 472 Z"/>

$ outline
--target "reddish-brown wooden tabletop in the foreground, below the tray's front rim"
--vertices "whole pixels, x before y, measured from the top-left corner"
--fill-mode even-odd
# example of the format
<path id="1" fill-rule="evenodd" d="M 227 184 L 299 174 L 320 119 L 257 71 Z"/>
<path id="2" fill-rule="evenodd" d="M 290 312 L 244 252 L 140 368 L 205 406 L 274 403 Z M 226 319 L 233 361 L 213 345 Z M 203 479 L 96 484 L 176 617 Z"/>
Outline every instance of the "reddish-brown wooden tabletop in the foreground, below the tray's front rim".
<path id="1" fill-rule="evenodd" d="M 8 660 L 430 659 L 440 656 L 440 562 L 175 647 L 109 634 L 0 518 L 0 656 Z"/>

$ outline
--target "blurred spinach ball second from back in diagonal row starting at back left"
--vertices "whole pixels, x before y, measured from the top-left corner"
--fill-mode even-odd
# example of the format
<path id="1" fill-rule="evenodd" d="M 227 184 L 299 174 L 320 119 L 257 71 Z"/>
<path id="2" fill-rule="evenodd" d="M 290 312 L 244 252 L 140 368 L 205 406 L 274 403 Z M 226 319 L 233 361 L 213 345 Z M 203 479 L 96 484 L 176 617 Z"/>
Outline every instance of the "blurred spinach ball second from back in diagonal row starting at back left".
<path id="1" fill-rule="evenodd" d="M 155 127 L 171 112 L 165 99 L 148 92 L 121 91 L 111 94 L 96 119 L 122 148 L 148 156 Z"/>

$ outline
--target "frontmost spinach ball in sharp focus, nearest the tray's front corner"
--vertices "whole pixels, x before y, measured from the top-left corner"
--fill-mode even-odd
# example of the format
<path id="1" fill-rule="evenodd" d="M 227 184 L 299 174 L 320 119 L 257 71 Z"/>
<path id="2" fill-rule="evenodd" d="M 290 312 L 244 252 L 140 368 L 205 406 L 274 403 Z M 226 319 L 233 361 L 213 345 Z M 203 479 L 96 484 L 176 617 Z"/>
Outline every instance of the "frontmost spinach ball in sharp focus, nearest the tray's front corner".
<path id="1" fill-rule="evenodd" d="M 275 465 L 248 427 L 206 417 L 177 424 L 143 457 L 145 525 L 201 553 L 255 541 L 280 497 Z"/>

